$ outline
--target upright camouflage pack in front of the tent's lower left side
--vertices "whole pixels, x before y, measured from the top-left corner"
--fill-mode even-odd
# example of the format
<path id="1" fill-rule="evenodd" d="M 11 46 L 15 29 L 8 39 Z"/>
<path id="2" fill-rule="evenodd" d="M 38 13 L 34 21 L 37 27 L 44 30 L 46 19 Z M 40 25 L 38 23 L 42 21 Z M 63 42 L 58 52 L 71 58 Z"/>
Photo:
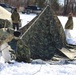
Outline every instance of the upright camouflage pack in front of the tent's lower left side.
<path id="1" fill-rule="evenodd" d="M 30 49 L 22 40 L 18 40 L 16 48 L 16 60 L 30 62 Z"/>

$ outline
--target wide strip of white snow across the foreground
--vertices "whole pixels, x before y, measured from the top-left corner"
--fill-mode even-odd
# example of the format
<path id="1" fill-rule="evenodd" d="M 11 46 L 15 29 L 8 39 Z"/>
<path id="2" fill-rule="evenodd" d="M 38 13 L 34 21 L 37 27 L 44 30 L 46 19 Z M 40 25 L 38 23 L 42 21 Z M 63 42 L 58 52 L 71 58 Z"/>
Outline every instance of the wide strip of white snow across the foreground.
<path id="1" fill-rule="evenodd" d="M 75 64 L 0 63 L 0 75 L 76 75 Z"/>

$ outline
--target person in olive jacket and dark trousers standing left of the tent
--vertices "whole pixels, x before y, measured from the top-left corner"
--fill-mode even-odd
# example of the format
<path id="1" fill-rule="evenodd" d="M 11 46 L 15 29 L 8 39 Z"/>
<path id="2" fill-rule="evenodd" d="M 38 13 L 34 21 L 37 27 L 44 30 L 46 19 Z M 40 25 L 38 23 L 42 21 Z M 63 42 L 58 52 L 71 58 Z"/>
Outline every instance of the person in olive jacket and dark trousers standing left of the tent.
<path id="1" fill-rule="evenodd" d="M 19 22 L 20 22 L 20 15 L 17 12 L 17 8 L 14 9 L 13 13 L 11 14 L 13 29 L 19 30 Z"/>

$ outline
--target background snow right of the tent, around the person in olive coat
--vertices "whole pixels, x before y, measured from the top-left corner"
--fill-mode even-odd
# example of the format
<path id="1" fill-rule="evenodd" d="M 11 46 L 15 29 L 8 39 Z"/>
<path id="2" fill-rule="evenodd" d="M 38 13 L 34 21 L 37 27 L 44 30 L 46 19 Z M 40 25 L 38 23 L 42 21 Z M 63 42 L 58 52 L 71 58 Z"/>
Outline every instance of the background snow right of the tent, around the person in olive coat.
<path id="1" fill-rule="evenodd" d="M 64 17 L 64 16 L 58 16 L 63 28 L 68 20 L 68 17 Z M 73 17 L 73 30 L 65 30 L 65 34 L 66 34 L 66 41 L 68 44 L 73 44 L 73 45 L 76 45 L 76 17 Z"/>

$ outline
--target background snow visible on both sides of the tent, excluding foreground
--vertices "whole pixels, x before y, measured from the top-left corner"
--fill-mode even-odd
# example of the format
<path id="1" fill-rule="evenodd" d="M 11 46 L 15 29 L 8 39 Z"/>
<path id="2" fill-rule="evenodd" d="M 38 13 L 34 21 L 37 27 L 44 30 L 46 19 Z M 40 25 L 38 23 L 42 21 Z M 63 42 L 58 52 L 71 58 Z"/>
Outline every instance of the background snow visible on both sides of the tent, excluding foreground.
<path id="1" fill-rule="evenodd" d="M 20 18 L 21 18 L 21 23 L 22 27 L 29 23 L 34 17 L 36 17 L 36 14 L 22 14 L 20 13 Z M 63 28 L 68 20 L 68 17 L 66 16 L 58 16 Z M 73 44 L 76 45 L 76 17 L 73 17 L 73 22 L 74 22 L 74 28 L 73 30 L 65 30 L 65 35 L 66 35 L 66 41 L 68 44 Z M 22 28 L 21 27 L 21 28 Z"/>

